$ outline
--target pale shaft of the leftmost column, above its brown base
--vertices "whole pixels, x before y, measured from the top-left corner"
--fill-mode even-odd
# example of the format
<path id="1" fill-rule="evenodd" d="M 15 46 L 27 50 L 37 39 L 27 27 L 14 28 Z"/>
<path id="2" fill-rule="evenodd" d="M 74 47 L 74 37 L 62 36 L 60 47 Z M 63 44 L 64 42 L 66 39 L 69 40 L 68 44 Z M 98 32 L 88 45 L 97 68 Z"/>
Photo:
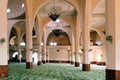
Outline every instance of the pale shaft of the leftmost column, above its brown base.
<path id="1" fill-rule="evenodd" d="M 0 0 L 0 40 L 4 39 L 5 42 L 0 42 L 0 65 L 8 64 L 8 38 L 7 38 L 7 0 Z"/>

